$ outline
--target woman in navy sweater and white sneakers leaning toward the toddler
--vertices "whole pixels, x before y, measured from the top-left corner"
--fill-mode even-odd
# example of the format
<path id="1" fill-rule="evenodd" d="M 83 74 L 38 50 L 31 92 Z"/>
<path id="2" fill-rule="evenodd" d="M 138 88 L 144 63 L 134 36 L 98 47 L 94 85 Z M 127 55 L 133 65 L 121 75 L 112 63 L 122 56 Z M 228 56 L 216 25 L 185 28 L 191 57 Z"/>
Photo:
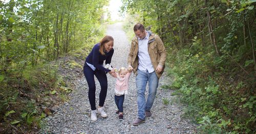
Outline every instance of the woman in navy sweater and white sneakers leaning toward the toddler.
<path id="1" fill-rule="evenodd" d="M 106 98 L 106 91 L 108 89 L 108 79 L 106 78 L 106 73 L 112 74 L 115 72 L 114 69 L 109 70 L 103 67 L 103 61 L 105 64 L 110 64 L 111 59 L 114 53 L 113 49 L 114 39 L 111 36 L 105 36 L 99 43 L 94 45 L 92 51 L 86 58 L 86 62 L 83 66 L 83 74 L 86 76 L 86 80 L 89 86 L 89 101 L 91 105 L 91 120 L 97 120 L 97 111 L 96 111 L 96 104 L 95 104 L 95 81 L 94 75 L 98 79 L 100 83 L 100 94 L 99 94 L 99 106 L 98 106 L 98 113 L 101 117 L 106 118 L 108 115 L 104 112 L 103 105 Z"/>

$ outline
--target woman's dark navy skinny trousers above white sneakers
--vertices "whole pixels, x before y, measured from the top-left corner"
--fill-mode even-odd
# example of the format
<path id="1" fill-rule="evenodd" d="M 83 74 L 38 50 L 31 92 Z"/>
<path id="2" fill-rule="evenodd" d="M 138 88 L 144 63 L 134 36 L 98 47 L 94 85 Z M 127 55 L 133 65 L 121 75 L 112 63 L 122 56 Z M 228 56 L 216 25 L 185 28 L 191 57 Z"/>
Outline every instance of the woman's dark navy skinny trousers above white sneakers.
<path id="1" fill-rule="evenodd" d="M 106 98 L 106 91 L 108 89 L 108 79 L 106 78 L 106 73 L 96 69 L 95 71 L 92 70 L 91 67 L 89 67 L 87 64 L 84 64 L 83 66 L 83 74 L 86 76 L 86 81 L 89 86 L 89 101 L 91 105 L 91 110 L 96 110 L 96 104 L 95 104 L 95 81 L 94 81 L 94 75 L 98 79 L 100 83 L 100 93 L 99 93 L 99 106 L 103 106 Z"/>

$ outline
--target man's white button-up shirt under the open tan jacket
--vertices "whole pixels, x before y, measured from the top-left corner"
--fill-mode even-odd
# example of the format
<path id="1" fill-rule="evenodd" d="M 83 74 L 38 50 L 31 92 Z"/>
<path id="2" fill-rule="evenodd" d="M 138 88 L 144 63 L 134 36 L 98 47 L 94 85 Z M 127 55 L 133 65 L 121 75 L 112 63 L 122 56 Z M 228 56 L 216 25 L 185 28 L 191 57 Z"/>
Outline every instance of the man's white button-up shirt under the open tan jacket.
<path id="1" fill-rule="evenodd" d="M 145 32 L 147 33 L 147 35 L 144 39 L 140 39 L 138 37 L 138 41 L 139 41 L 139 50 L 138 50 L 139 66 L 138 66 L 138 69 L 141 71 L 144 71 L 144 72 L 148 71 L 149 73 L 152 73 L 155 70 L 151 63 L 150 55 L 148 55 L 148 50 L 147 50 L 149 34 L 147 31 L 145 31 Z"/>

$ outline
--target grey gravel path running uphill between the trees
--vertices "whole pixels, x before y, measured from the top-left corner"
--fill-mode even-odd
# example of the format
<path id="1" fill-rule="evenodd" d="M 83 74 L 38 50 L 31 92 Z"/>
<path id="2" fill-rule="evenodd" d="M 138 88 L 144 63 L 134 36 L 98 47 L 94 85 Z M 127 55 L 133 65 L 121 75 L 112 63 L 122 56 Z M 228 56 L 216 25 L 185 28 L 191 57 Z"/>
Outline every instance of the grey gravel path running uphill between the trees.
<path id="1" fill-rule="evenodd" d="M 115 68 L 127 66 L 127 55 L 131 41 L 122 30 L 122 23 L 108 26 L 107 35 L 114 38 L 114 56 L 112 65 Z M 82 63 L 83 64 L 83 63 Z M 137 94 L 135 75 L 130 78 L 129 94 L 124 99 L 124 120 L 119 121 L 114 101 L 115 79 L 108 75 L 108 94 L 104 108 L 108 118 L 98 115 L 98 120 L 90 120 L 90 103 L 88 99 L 88 86 L 86 79 L 82 77 L 76 83 L 76 89 L 70 94 L 70 101 L 56 108 L 56 113 L 44 119 L 45 126 L 40 133 L 196 133 L 196 125 L 181 117 L 182 106 L 177 104 L 172 90 L 161 89 L 164 84 L 170 83 L 170 79 L 163 75 L 159 80 L 157 96 L 152 108 L 152 117 L 146 118 L 146 122 L 133 126 L 137 118 Z M 96 104 L 100 86 L 96 79 Z M 147 89 L 148 90 L 148 89 Z M 146 90 L 146 91 L 147 91 Z M 163 98 L 170 103 L 163 104 Z"/>

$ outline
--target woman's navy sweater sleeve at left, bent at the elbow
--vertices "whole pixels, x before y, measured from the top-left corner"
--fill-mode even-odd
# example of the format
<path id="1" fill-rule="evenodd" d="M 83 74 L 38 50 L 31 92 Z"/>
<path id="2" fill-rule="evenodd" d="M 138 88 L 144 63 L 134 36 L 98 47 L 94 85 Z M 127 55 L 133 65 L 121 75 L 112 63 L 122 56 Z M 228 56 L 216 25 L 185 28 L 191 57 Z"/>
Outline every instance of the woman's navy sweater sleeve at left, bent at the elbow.
<path id="1" fill-rule="evenodd" d="M 102 70 L 104 72 L 110 72 L 111 70 L 104 68 L 102 65 L 99 64 L 99 48 L 94 47 L 93 48 L 93 66 L 99 70 Z M 112 56 L 111 56 L 112 57 Z"/>

